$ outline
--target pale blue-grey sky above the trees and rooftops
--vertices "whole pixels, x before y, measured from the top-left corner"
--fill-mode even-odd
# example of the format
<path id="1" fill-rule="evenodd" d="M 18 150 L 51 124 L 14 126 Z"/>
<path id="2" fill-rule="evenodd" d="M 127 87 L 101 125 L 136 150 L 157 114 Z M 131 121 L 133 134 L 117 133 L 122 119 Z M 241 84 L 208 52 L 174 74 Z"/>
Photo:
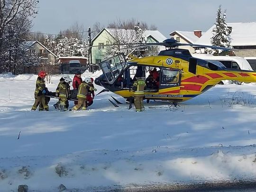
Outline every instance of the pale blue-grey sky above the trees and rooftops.
<path id="1" fill-rule="evenodd" d="M 228 23 L 256 21 L 256 0 L 39 0 L 32 30 L 58 33 L 75 22 L 87 29 L 135 18 L 168 37 L 175 30 L 207 31 L 219 5 L 227 9 Z"/>

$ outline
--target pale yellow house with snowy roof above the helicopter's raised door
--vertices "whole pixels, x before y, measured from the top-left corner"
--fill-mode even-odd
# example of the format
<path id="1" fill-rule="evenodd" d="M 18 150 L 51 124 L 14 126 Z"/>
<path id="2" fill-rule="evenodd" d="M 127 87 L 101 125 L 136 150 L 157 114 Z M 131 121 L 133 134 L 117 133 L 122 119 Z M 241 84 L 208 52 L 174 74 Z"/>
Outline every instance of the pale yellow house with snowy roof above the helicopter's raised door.
<path id="1" fill-rule="evenodd" d="M 158 30 L 146 30 L 145 31 L 146 42 L 163 42 L 165 35 L 160 33 Z M 104 52 L 106 47 L 104 45 L 111 44 L 113 42 L 122 42 L 122 39 L 126 39 L 126 42 L 132 42 L 135 36 L 135 30 L 133 29 L 111 29 L 103 28 L 91 41 L 93 46 L 91 49 L 92 63 L 100 63 L 104 60 Z M 159 47 L 165 49 L 163 47 Z"/>

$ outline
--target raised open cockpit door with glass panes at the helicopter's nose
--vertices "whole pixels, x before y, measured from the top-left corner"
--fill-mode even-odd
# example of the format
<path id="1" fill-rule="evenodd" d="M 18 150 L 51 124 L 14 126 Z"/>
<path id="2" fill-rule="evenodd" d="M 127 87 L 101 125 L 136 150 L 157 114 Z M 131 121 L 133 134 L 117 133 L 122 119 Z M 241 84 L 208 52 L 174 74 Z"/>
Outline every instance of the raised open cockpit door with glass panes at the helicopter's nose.
<path id="1" fill-rule="evenodd" d="M 123 53 L 113 56 L 107 60 L 99 63 L 107 82 L 112 85 L 116 79 L 122 74 L 123 69 L 126 67 L 126 59 Z"/>

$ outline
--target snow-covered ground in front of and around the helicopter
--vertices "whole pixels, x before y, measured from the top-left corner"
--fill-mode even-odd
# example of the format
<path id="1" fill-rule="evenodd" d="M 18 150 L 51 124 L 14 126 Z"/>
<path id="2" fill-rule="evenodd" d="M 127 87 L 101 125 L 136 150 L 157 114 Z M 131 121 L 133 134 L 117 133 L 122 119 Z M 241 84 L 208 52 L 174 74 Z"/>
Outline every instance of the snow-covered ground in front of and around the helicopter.
<path id="1" fill-rule="evenodd" d="M 39 112 L 30 111 L 36 78 L 0 75 L 1 192 L 19 184 L 106 191 L 256 178 L 254 84 L 216 85 L 177 109 L 161 101 L 145 103 L 143 113 L 114 108 L 111 95 L 125 100 L 105 92 L 86 111 L 56 111 L 52 99 L 50 111 Z"/>

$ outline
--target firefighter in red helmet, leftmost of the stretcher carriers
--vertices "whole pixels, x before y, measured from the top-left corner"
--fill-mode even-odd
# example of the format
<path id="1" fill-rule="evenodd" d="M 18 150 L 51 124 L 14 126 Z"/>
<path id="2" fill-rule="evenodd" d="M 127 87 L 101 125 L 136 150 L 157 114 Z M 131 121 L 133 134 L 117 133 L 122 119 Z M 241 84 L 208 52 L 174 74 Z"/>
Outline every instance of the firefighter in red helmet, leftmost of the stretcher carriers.
<path id="1" fill-rule="evenodd" d="M 46 83 L 45 83 L 46 72 L 41 71 L 37 77 L 36 90 L 35 90 L 35 103 L 31 110 L 37 110 L 39 104 L 43 106 L 43 109 L 48 111 L 49 107 L 45 101 Z M 43 110 L 39 108 L 39 110 Z"/>

